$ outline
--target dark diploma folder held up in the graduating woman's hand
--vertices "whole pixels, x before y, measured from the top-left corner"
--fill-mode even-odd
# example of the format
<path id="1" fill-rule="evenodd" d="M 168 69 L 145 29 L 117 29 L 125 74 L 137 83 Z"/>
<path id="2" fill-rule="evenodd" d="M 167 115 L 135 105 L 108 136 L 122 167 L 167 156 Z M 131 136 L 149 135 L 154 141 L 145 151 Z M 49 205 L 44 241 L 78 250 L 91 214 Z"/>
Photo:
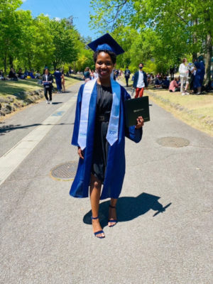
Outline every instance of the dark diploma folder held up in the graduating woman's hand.
<path id="1" fill-rule="evenodd" d="M 142 116 L 144 122 L 150 121 L 148 96 L 137 99 L 127 99 L 125 102 L 126 126 L 137 124 L 138 116 Z"/>

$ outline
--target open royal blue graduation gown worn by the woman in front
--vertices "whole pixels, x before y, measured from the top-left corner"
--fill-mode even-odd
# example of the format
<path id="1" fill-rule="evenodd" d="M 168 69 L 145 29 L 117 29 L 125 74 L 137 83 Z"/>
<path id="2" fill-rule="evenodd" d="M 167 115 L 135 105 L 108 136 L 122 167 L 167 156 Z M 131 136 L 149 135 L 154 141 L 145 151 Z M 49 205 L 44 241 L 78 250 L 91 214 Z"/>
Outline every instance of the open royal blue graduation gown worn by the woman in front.
<path id="1" fill-rule="evenodd" d="M 77 106 L 75 113 L 75 124 L 72 134 L 72 145 L 79 146 L 77 143 L 79 126 L 80 126 L 80 111 L 82 104 L 82 94 L 84 90 L 84 84 L 80 87 L 80 91 L 77 97 Z M 126 99 L 130 99 L 130 95 L 126 92 L 124 87 L 121 87 L 121 105 L 120 105 L 120 119 L 119 119 L 119 137 L 118 140 L 112 145 L 109 145 L 107 169 L 104 178 L 104 186 L 102 189 L 101 200 L 106 198 L 118 198 L 121 193 L 121 188 L 125 175 L 125 136 L 138 143 L 142 138 L 142 129 L 135 129 L 135 126 L 126 128 L 125 114 L 124 114 L 124 102 Z M 94 146 L 94 126 L 96 119 L 96 101 L 97 101 L 97 82 L 94 85 L 94 89 L 91 94 L 89 102 L 89 119 L 87 129 L 87 146 L 83 151 L 84 159 L 79 160 L 77 173 L 75 180 L 72 182 L 70 189 L 70 195 L 73 197 L 88 197 L 91 167 L 92 167 L 92 155 Z"/>

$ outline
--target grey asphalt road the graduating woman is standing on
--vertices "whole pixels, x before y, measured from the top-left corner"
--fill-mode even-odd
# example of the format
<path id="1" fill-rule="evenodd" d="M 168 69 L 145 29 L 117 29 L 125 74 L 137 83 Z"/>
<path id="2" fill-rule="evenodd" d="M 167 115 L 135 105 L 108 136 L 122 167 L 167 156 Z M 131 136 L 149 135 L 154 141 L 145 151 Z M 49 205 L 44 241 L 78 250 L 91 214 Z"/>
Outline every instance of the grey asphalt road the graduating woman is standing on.
<path id="1" fill-rule="evenodd" d="M 0 124 L 0 159 L 5 155 L 11 165 L 20 141 L 30 149 L 22 160 L 14 154 L 0 185 L 0 283 L 212 283 L 213 138 L 151 103 L 141 143 L 126 140 L 119 223 L 106 226 L 109 200 L 102 201 L 106 238 L 97 239 L 89 199 L 70 197 L 71 182 L 50 177 L 56 165 L 78 159 L 70 140 L 79 87 Z M 53 124 L 43 125 L 53 116 Z M 38 127 L 43 136 L 32 144 Z M 168 137 L 163 146 L 159 139 Z M 175 138 L 189 145 L 171 147 Z"/>

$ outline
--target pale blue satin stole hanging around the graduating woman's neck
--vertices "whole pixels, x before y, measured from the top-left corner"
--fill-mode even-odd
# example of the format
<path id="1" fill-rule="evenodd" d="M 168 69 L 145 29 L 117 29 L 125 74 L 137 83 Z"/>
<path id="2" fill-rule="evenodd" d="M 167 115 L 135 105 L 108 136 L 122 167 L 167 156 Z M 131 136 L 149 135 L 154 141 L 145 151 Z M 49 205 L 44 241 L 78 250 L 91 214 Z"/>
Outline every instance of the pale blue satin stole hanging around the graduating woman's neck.
<path id="1" fill-rule="evenodd" d="M 89 102 L 91 99 L 92 91 L 96 80 L 91 80 L 84 85 L 82 94 L 82 107 L 80 114 L 80 129 L 78 134 L 77 143 L 82 150 L 87 144 L 87 126 L 89 116 Z M 119 83 L 111 79 L 112 89 L 112 107 L 109 119 L 109 127 L 107 131 L 107 141 L 112 146 L 118 139 L 119 133 L 119 115 L 120 115 L 120 102 L 121 102 L 121 86 Z"/>

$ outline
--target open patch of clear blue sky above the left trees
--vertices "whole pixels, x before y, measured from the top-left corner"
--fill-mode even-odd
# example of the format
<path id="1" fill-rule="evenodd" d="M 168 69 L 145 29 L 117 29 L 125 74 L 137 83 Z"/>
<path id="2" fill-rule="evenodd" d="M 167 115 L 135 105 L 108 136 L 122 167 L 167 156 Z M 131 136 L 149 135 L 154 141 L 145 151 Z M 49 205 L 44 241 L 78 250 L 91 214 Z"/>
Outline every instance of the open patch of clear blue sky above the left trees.
<path id="1" fill-rule="evenodd" d="M 30 10 L 34 17 L 40 13 L 50 18 L 68 18 L 73 16 L 73 23 L 80 35 L 97 38 L 95 31 L 89 29 L 90 0 L 22 0 L 21 9 Z"/>

